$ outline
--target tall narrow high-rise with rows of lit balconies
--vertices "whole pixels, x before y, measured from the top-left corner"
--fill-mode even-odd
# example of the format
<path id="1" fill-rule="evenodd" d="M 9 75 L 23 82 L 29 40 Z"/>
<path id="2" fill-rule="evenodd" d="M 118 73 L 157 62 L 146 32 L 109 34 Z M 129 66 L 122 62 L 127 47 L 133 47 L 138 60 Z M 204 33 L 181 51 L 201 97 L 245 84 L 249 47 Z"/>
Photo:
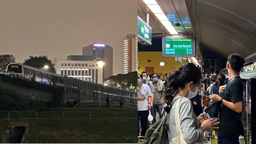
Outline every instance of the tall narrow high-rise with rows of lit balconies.
<path id="1" fill-rule="evenodd" d="M 126 35 L 123 40 L 123 73 L 138 71 L 138 35 Z"/>

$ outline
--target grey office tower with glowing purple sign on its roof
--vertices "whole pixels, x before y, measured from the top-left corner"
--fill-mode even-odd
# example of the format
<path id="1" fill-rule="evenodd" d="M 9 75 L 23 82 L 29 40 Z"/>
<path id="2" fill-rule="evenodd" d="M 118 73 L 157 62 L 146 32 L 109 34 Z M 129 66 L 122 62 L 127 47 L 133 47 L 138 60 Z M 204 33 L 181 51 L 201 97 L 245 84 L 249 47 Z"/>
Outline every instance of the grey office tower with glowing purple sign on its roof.
<path id="1" fill-rule="evenodd" d="M 83 56 L 92 56 L 92 60 L 102 60 L 103 80 L 113 76 L 113 47 L 105 44 L 91 44 L 83 47 Z"/>

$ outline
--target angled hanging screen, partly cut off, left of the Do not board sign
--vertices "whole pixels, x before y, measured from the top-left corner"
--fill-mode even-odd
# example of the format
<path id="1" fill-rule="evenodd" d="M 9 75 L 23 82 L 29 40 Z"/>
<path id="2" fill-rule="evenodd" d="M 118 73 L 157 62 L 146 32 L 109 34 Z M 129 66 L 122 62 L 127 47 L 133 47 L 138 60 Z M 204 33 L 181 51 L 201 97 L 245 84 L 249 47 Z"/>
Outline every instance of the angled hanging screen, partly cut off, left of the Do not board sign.
<path id="1" fill-rule="evenodd" d="M 138 38 L 151 45 L 152 28 L 138 16 Z M 144 44 L 144 43 L 142 43 Z"/>

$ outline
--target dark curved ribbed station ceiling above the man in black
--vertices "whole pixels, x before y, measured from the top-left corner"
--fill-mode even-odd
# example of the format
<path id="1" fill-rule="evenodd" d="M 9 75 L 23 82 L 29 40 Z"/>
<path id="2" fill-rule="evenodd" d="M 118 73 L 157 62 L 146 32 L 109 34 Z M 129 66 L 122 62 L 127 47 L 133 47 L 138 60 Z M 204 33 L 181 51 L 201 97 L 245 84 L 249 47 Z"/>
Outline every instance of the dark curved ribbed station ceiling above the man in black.
<path id="1" fill-rule="evenodd" d="M 253 0 L 196 0 L 192 11 L 198 17 L 202 48 L 226 58 L 231 53 L 247 57 L 256 52 L 255 7 Z"/>

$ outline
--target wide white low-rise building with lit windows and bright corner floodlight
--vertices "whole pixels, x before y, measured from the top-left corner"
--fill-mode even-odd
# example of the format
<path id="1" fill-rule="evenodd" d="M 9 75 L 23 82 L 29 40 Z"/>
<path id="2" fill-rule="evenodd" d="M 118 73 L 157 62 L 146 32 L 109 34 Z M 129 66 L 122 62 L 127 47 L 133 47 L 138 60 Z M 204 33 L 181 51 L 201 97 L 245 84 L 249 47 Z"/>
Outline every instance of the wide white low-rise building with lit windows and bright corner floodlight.
<path id="1" fill-rule="evenodd" d="M 103 83 L 103 61 L 55 61 L 56 73 L 93 83 Z"/>

